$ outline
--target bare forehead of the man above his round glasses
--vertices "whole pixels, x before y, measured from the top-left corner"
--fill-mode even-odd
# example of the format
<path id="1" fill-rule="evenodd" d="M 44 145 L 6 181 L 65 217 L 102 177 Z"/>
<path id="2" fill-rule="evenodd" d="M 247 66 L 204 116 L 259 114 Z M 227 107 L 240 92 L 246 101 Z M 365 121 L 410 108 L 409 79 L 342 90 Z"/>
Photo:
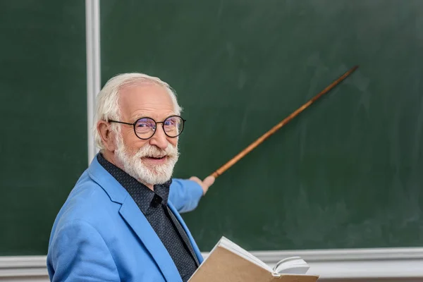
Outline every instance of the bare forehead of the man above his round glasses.
<path id="1" fill-rule="evenodd" d="M 119 106 L 122 117 L 128 119 L 141 116 L 161 119 L 174 114 L 168 90 L 154 82 L 139 82 L 123 87 L 119 92 Z"/>

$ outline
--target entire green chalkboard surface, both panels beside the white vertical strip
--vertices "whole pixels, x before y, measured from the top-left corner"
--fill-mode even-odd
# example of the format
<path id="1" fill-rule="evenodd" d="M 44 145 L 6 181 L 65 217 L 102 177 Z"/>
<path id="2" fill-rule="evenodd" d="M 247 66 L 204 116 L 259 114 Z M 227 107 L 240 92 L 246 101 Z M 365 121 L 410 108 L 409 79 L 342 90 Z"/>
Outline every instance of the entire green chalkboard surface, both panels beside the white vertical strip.
<path id="1" fill-rule="evenodd" d="M 175 176 L 220 176 L 183 214 L 203 251 L 423 242 L 423 1 L 101 2 L 102 83 L 157 75 L 187 119 Z M 45 255 L 87 167 L 84 1 L 0 1 L 0 255 Z"/>

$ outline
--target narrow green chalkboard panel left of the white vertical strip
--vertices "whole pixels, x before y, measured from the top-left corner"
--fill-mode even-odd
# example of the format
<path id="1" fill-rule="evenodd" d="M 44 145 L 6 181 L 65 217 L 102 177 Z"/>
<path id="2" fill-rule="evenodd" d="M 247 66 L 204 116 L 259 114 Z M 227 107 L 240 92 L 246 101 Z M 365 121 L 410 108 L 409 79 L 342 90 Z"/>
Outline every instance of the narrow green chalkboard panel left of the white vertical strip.
<path id="1" fill-rule="evenodd" d="M 46 255 L 87 167 L 85 1 L 0 1 L 0 255 Z"/>

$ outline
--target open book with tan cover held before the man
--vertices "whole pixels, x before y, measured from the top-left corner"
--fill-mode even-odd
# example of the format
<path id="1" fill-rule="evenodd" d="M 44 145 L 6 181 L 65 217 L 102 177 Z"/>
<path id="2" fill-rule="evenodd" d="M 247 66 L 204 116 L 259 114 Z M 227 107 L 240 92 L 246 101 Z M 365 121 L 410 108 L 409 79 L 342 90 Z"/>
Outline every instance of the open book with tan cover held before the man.
<path id="1" fill-rule="evenodd" d="M 300 257 L 281 259 L 271 268 L 231 240 L 222 237 L 189 282 L 314 282 L 309 265 Z"/>

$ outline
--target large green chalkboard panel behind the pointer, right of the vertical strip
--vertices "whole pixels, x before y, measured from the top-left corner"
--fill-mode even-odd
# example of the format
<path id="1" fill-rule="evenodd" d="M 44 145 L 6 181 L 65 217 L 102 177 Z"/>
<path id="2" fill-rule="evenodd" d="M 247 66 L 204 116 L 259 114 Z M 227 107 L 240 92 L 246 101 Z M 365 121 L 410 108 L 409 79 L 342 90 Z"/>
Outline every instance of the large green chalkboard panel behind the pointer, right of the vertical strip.
<path id="1" fill-rule="evenodd" d="M 102 83 L 157 75 L 187 119 L 175 175 L 205 177 L 360 68 L 223 173 L 184 214 L 204 251 L 422 246 L 423 1 L 118 1 Z"/>

